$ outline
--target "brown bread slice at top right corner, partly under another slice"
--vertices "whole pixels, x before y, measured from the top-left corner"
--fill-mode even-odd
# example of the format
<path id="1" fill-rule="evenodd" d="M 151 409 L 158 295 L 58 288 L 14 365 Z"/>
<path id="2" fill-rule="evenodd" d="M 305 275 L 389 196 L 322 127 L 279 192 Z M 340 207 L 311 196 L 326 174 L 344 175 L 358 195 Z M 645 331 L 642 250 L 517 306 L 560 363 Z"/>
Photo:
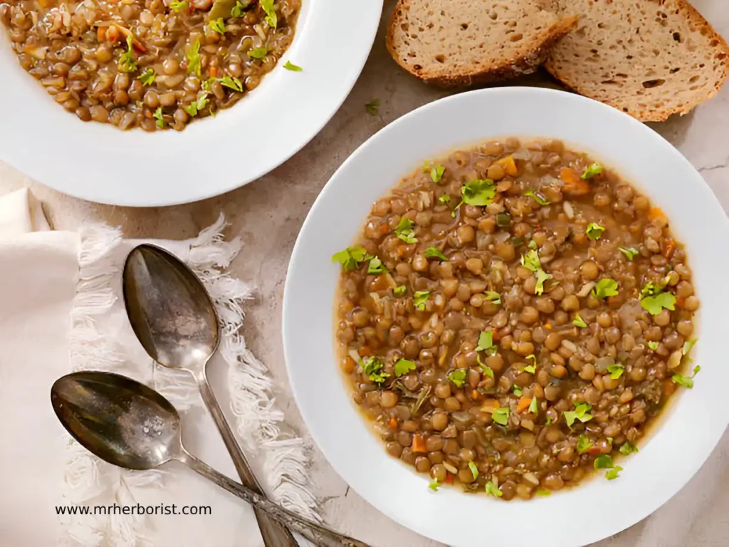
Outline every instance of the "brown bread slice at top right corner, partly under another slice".
<path id="1" fill-rule="evenodd" d="M 686 0 L 559 3 L 579 23 L 550 51 L 547 71 L 638 120 L 686 114 L 727 77 L 727 43 Z"/>

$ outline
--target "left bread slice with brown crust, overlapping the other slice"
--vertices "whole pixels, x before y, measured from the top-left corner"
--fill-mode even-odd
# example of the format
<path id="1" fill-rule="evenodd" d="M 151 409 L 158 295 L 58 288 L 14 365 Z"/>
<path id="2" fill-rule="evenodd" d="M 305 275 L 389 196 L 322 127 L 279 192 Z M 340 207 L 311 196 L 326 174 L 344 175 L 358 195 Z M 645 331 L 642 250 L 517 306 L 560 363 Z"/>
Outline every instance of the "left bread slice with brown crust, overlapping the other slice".
<path id="1" fill-rule="evenodd" d="M 403 69 L 443 87 L 529 74 L 577 24 L 555 15 L 555 1 L 399 0 L 387 49 Z"/>

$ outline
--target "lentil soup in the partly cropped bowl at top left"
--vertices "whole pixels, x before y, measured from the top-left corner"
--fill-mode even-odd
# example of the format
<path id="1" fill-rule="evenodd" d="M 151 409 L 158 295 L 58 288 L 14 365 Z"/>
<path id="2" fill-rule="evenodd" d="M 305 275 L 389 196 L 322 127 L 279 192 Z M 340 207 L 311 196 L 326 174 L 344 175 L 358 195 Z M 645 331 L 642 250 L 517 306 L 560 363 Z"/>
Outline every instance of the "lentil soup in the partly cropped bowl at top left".
<path id="1" fill-rule="evenodd" d="M 5 0 L 0 21 L 20 66 L 79 119 L 182 131 L 260 84 L 299 10 L 300 0 Z"/>

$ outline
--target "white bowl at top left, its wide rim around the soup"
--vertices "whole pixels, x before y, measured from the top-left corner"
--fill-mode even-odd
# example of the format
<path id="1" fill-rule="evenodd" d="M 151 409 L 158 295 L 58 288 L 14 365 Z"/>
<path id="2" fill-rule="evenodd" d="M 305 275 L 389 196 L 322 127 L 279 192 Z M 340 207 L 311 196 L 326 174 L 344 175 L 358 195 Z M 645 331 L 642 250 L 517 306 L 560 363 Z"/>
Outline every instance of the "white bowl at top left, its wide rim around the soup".
<path id="1" fill-rule="evenodd" d="M 0 159 L 55 190 L 114 205 L 176 205 L 233 190 L 290 158 L 335 114 L 381 12 L 382 0 L 303 0 L 276 69 L 232 108 L 179 133 L 82 122 L 20 68 L 0 24 Z M 288 60 L 303 71 L 284 69 Z"/>

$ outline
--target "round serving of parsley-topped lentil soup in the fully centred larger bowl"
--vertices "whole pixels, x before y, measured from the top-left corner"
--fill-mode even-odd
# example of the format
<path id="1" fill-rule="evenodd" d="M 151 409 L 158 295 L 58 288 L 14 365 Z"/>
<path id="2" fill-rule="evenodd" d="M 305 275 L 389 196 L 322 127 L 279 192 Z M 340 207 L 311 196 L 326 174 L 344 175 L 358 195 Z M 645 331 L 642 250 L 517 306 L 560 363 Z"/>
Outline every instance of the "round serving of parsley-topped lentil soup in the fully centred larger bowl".
<path id="1" fill-rule="evenodd" d="M 426 162 L 332 258 L 351 396 L 434 490 L 529 499 L 613 480 L 693 387 L 685 249 L 649 198 L 560 141 Z"/>

